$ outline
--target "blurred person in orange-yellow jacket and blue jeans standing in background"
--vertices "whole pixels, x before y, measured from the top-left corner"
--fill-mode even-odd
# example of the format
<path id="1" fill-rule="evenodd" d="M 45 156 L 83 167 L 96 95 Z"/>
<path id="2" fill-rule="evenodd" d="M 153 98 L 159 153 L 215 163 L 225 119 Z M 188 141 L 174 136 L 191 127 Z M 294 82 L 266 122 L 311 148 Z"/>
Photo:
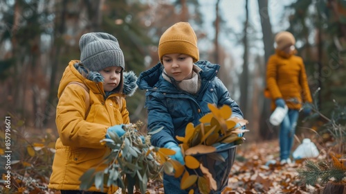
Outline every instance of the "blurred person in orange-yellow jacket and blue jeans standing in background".
<path id="1" fill-rule="evenodd" d="M 280 124 L 280 160 L 290 163 L 291 148 L 302 103 L 312 103 L 304 62 L 295 55 L 295 38 L 283 31 L 275 36 L 275 54 L 268 59 L 266 84 L 272 99 L 271 109 L 287 106 Z"/>

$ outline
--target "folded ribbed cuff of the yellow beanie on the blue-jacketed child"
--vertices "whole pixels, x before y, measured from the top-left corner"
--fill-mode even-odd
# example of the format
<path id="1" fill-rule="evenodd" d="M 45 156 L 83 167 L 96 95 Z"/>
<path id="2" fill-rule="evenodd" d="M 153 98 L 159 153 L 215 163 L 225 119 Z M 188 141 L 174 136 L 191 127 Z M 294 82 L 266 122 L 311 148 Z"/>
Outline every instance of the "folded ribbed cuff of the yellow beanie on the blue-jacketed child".
<path id="1" fill-rule="evenodd" d="M 158 55 L 162 62 L 163 55 L 171 53 L 182 53 L 193 58 L 193 62 L 199 60 L 199 50 L 196 45 L 183 39 L 170 39 L 158 46 Z"/>

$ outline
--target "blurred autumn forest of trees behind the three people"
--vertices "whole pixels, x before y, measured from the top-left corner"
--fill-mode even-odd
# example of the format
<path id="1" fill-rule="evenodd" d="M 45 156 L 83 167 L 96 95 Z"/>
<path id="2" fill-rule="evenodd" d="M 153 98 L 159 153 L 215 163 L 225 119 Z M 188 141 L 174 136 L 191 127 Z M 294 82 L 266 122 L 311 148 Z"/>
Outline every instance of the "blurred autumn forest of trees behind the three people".
<path id="1" fill-rule="evenodd" d="M 242 0 L 244 15 L 236 19 L 241 30 L 226 17 L 235 7 L 221 6 L 223 1 L 230 0 L 0 0 L 1 118 L 10 114 L 28 131 L 55 132 L 57 88 L 69 61 L 80 58 L 81 35 L 100 31 L 117 37 L 126 70 L 139 76 L 158 62 L 158 39 L 177 21 L 189 21 L 196 31 L 201 60 L 221 65 L 219 78 L 249 121 L 248 139 L 275 137 L 263 91 L 266 60 L 279 30 L 295 36 L 320 111 L 329 114 L 335 102 L 345 105 L 346 1 L 284 1 L 280 15 L 273 15 L 273 4 L 283 1 Z M 206 6 L 211 11 L 201 9 Z M 132 123 L 146 121 L 144 102 L 145 91 L 127 98 Z"/>

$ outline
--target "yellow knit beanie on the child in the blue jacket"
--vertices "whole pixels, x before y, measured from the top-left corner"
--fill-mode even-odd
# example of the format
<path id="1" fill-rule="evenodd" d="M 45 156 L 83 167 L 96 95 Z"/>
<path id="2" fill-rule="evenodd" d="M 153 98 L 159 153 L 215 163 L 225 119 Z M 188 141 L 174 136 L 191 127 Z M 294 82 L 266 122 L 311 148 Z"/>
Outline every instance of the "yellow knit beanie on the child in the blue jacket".
<path id="1" fill-rule="evenodd" d="M 190 55 L 194 62 L 199 60 L 197 36 L 188 22 L 178 22 L 165 30 L 158 42 L 158 58 L 162 62 L 163 55 L 183 53 Z"/>

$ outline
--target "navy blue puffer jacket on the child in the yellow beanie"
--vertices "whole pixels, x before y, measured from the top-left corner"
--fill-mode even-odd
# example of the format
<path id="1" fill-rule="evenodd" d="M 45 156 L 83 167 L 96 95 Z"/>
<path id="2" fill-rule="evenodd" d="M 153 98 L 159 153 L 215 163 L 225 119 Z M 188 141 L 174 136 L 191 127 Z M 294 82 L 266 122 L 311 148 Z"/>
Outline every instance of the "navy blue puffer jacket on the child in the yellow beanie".
<path id="1" fill-rule="evenodd" d="M 167 82 L 161 76 L 161 63 L 140 73 L 137 85 L 139 89 L 147 90 L 145 107 L 148 112 L 148 130 L 163 127 L 160 132 L 152 134 L 152 145 L 162 148 L 169 141 L 176 142 L 176 135 L 185 136 L 188 123 L 198 125 L 199 118 L 210 112 L 208 103 L 216 104 L 218 107 L 229 105 L 233 111 L 232 116 L 243 118 L 239 106 L 230 98 L 225 85 L 217 78 L 219 64 L 208 61 L 195 64 L 202 69 L 201 89 L 196 95 L 181 91 Z"/>

